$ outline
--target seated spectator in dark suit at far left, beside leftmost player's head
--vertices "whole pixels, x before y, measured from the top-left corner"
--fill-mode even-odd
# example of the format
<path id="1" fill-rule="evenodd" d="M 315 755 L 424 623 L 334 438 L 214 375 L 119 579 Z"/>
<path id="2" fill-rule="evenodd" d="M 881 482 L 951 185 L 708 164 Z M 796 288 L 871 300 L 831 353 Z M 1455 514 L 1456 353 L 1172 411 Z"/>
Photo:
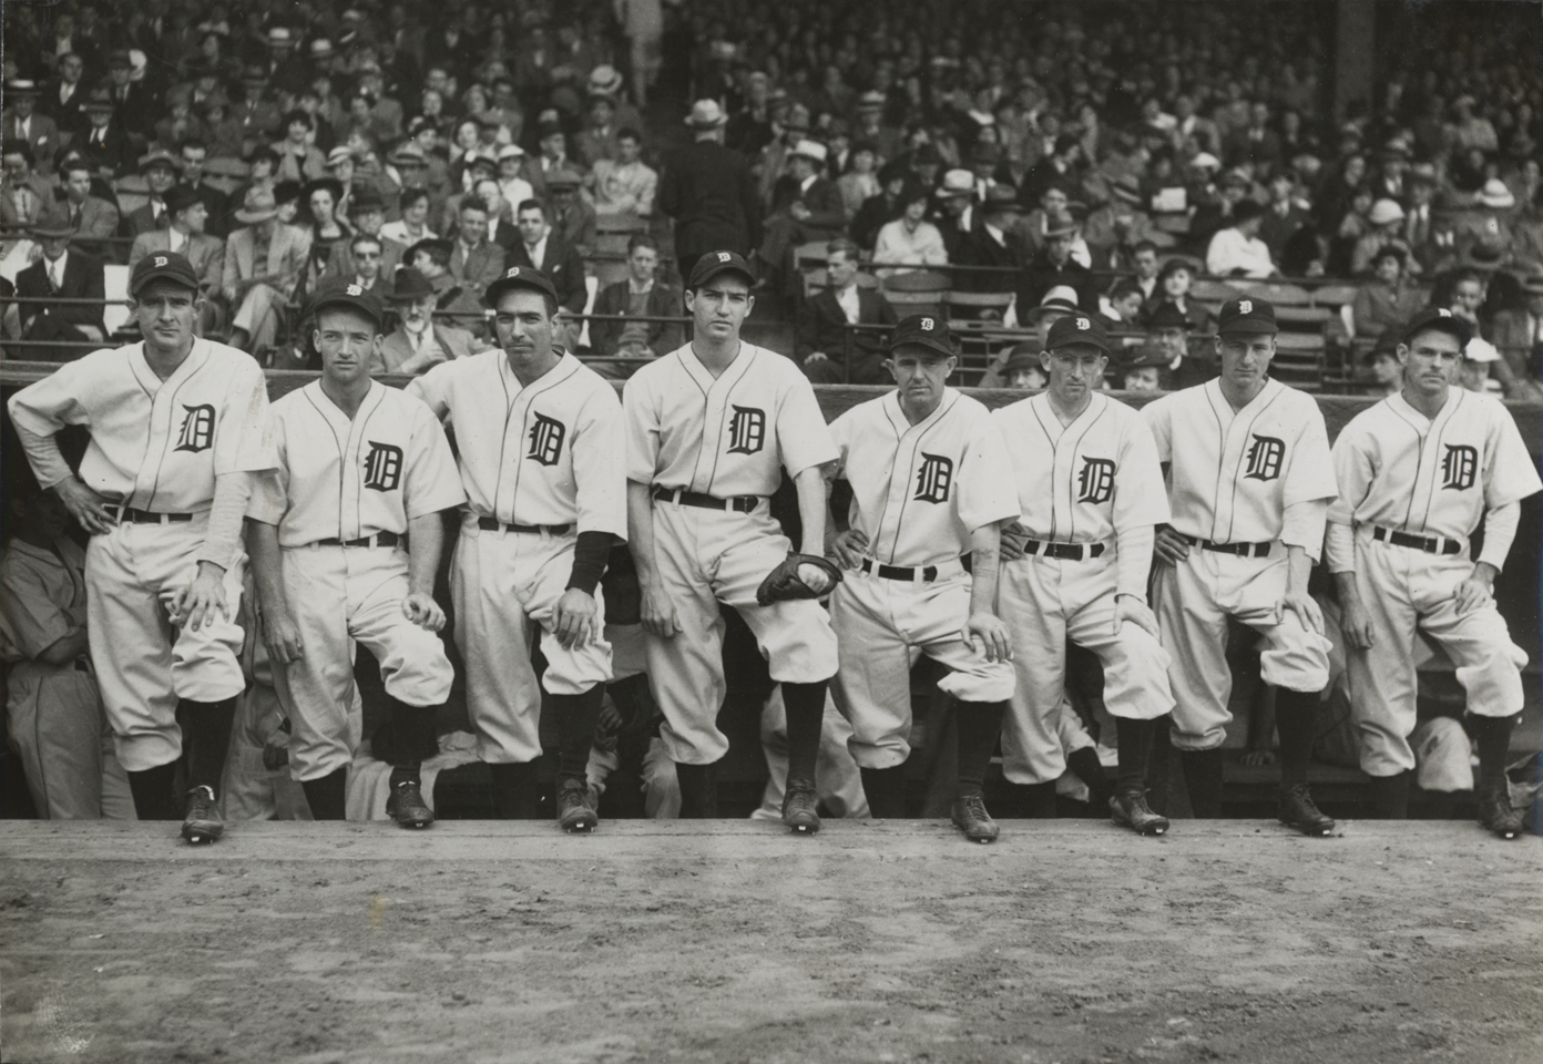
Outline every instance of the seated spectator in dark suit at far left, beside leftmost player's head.
<path id="1" fill-rule="evenodd" d="M 102 262 L 89 254 L 69 250 L 74 230 L 63 211 L 52 211 L 32 227 L 32 239 L 43 256 L 15 276 L 15 295 L 22 299 L 106 299 Z M 22 336 L 26 341 L 77 341 L 80 347 L 37 347 L 25 344 L 23 358 L 39 362 L 68 362 L 91 352 L 91 345 L 106 342 L 102 304 L 23 302 Z"/>

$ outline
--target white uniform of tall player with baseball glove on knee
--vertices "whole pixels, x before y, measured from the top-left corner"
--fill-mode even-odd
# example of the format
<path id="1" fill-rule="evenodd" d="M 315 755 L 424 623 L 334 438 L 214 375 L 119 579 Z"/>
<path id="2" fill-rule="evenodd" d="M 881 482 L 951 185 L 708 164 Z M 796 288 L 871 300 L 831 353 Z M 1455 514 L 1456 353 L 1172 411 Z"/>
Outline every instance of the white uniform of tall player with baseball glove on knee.
<path id="1" fill-rule="evenodd" d="M 798 365 L 753 344 L 716 378 L 687 344 L 637 370 L 622 401 L 626 478 L 654 490 L 654 563 L 680 621 L 671 638 L 648 635 L 659 734 L 671 760 L 711 765 L 728 749 L 716 723 L 727 691 L 719 601 L 745 618 L 773 680 L 818 683 L 836 671 L 836 637 L 818 601 L 756 603 L 792 549 L 767 498 L 784 469 L 824 466 L 836 447 Z M 688 506 L 680 492 L 728 509 Z"/>

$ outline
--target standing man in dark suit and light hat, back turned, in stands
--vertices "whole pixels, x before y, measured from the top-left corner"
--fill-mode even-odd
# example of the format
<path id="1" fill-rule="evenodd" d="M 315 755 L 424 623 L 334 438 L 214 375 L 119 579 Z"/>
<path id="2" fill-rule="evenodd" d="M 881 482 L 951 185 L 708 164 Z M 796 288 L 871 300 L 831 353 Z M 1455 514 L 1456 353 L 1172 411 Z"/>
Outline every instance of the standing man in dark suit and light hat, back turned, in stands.
<path id="1" fill-rule="evenodd" d="M 708 251 L 750 254 L 761 245 L 755 177 L 745 157 L 724 146 L 727 120 L 716 100 L 691 105 L 694 140 L 659 182 L 659 210 L 676 221 L 676 267 L 685 278 Z"/>

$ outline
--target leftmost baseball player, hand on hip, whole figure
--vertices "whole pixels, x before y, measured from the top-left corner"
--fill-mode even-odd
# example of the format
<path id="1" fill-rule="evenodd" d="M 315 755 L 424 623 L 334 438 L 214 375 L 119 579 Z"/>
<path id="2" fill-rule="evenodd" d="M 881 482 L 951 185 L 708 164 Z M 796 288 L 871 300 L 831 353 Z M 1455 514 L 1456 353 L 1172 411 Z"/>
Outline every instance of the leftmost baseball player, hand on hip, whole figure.
<path id="1" fill-rule="evenodd" d="M 9 409 L 39 484 L 91 534 L 91 663 L 139 819 L 176 819 L 181 717 L 182 837 L 213 842 L 244 686 L 241 521 L 252 475 L 276 461 L 268 393 L 250 355 L 193 335 L 204 296 L 184 256 L 147 254 L 128 291 L 142 342 L 66 362 Z M 79 475 L 54 439 L 66 424 L 91 432 Z"/>

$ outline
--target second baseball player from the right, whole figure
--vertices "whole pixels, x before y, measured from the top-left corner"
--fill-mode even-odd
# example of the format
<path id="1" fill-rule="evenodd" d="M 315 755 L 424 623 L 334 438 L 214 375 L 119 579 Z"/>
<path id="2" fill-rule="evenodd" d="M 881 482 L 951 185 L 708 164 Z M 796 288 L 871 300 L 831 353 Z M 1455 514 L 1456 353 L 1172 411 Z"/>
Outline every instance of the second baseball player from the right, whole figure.
<path id="1" fill-rule="evenodd" d="M 1222 304 L 1214 341 L 1221 376 L 1142 409 L 1157 460 L 1170 466 L 1173 512 L 1156 535 L 1153 598 L 1173 658 L 1173 742 L 1194 816 L 1222 811 L 1222 739 L 1231 720 L 1227 618 L 1234 617 L 1264 637 L 1261 675 L 1276 688 L 1278 816 L 1322 836 L 1335 822 L 1313 805 L 1307 763 L 1330 643 L 1307 577 L 1324 541 L 1335 473 L 1318 404 L 1267 376 L 1275 338 L 1267 301 Z"/>

